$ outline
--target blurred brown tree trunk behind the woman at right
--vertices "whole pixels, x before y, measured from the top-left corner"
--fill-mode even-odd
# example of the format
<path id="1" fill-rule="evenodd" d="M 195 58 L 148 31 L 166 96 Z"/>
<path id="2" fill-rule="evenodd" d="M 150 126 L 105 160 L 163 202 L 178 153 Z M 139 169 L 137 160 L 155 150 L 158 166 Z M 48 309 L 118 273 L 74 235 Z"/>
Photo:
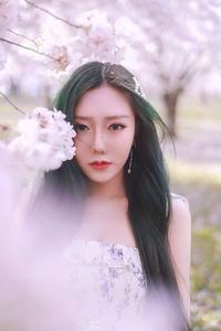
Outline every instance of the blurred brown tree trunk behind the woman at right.
<path id="1" fill-rule="evenodd" d="M 176 138 L 176 119 L 177 119 L 177 103 L 178 103 L 179 93 L 166 93 L 162 95 L 162 100 L 166 106 L 167 111 L 167 126 L 170 135 Z"/>

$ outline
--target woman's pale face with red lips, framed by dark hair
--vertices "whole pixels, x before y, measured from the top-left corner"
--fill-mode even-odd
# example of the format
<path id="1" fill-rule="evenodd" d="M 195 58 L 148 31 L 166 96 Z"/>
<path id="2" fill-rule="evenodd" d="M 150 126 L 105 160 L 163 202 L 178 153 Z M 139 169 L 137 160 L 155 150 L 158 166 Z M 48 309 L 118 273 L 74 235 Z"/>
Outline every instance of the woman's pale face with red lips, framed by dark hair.
<path id="1" fill-rule="evenodd" d="M 123 174 L 135 139 L 135 115 L 127 97 L 108 85 L 86 92 L 74 114 L 75 158 L 86 177 L 97 183 Z M 95 161 L 110 164 L 101 168 Z"/>

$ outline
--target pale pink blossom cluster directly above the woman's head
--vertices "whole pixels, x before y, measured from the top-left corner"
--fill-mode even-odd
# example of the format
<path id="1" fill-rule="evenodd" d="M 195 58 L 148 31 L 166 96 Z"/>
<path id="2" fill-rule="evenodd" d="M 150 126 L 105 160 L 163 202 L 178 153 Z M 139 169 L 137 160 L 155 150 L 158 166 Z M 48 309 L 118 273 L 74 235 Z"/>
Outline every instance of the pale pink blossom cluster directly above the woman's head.
<path id="1" fill-rule="evenodd" d="M 125 35 L 117 30 L 117 22 L 107 20 L 105 12 L 91 10 L 81 13 L 75 24 L 81 28 L 75 29 L 74 34 L 63 36 L 63 43 L 57 43 L 57 36 L 50 29 L 41 34 L 39 51 L 59 60 L 45 58 L 49 75 L 60 79 L 88 61 L 119 63 L 124 58 L 122 40 Z"/>

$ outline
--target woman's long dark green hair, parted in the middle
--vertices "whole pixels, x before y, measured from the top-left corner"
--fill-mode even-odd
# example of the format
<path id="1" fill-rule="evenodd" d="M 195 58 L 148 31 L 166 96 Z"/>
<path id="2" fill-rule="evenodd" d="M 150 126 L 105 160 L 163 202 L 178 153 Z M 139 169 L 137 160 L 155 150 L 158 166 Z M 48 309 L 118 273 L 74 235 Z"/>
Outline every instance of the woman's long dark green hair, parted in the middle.
<path id="1" fill-rule="evenodd" d="M 78 67 L 59 92 L 53 106 L 74 125 L 74 111 L 80 98 L 90 89 L 107 84 L 126 94 L 135 113 L 136 148 L 133 149 L 131 173 L 129 158 L 124 166 L 128 197 L 128 217 L 139 250 L 147 285 L 165 286 L 177 293 L 176 305 L 182 317 L 182 330 L 190 330 L 185 317 L 178 285 L 170 260 L 168 227 L 171 214 L 169 180 L 158 138 L 157 126 L 167 127 L 158 113 L 138 92 L 136 79 L 124 66 L 91 62 Z M 87 190 L 86 175 L 75 158 L 57 170 L 45 173 L 44 186 L 69 192 L 75 199 Z"/>

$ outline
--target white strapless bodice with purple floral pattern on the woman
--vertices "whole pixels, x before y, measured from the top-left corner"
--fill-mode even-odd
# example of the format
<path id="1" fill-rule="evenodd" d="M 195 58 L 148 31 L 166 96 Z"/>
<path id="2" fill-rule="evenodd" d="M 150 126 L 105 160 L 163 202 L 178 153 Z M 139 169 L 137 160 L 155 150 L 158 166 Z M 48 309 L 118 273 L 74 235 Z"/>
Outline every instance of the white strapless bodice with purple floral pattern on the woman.
<path id="1" fill-rule="evenodd" d="M 112 328 L 105 330 L 119 330 L 119 319 L 141 311 L 147 281 L 138 248 L 73 239 L 63 256 L 70 293 L 80 298 L 84 310 L 77 331 L 103 330 L 105 311 L 112 316 Z"/>

